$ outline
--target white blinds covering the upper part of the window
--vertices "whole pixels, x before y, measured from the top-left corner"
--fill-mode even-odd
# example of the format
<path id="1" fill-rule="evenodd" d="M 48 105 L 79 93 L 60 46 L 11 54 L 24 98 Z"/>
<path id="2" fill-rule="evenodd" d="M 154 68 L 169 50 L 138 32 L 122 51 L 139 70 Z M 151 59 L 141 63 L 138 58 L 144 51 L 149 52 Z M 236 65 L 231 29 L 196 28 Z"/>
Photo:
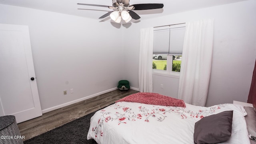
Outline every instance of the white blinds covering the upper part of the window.
<path id="1" fill-rule="evenodd" d="M 181 55 L 186 27 L 154 30 L 153 54 Z"/>

